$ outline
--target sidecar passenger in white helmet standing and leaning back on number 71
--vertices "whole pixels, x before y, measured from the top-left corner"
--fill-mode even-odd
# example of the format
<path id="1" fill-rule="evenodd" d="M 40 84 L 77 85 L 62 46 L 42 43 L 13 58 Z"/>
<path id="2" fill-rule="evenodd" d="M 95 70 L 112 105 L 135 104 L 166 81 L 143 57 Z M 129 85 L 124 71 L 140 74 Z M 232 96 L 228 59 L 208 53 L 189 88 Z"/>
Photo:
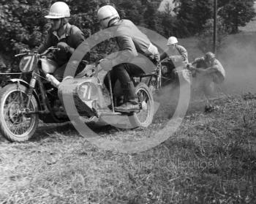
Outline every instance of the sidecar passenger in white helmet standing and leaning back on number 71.
<path id="1" fill-rule="evenodd" d="M 116 107 L 115 110 L 120 112 L 137 110 L 139 108 L 138 98 L 135 94 L 135 86 L 132 83 L 130 75 L 141 69 L 127 62 L 137 57 L 138 53 L 156 62 L 157 57 L 159 58 L 157 47 L 152 45 L 146 34 L 143 34 L 132 21 L 121 20 L 114 7 L 105 5 L 99 8 L 97 15 L 103 29 L 115 27 L 116 36 L 118 36 L 116 37 L 116 41 L 121 50 L 118 53 L 118 57 L 111 56 L 100 62 L 100 66 L 103 69 L 110 71 L 113 85 L 118 79 L 124 92 L 124 102 Z M 108 86 L 106 81 L 105 84 Z"/>

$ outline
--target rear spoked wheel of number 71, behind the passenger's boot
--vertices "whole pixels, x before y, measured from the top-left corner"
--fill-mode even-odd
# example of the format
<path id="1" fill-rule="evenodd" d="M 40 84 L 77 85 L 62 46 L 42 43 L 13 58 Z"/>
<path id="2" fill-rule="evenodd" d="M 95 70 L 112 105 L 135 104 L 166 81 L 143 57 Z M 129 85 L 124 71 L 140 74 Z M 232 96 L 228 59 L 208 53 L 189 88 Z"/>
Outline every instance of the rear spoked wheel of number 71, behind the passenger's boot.
<path id="1" fill-rule="evenodd" d="M 137 113 L 134 113 L 132 116 L 129 116 L 129 121 L 134 127 L 147 127 L 153 121 L 154 99 L 152 97 L 151 91 L 145 83 L 139 83 L 135 87 L 135 93 L 138 96 L 141 109 Z"/>

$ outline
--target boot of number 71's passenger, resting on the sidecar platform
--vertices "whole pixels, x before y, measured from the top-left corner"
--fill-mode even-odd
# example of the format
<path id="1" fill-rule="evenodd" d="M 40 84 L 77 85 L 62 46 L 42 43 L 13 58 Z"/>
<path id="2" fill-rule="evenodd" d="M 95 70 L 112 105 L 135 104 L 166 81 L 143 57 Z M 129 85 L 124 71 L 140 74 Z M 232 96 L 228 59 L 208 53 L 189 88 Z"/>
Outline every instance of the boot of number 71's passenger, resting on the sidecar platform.
<path id="1" fill-rule="evenodd" d="M 140 110 L 138 97 L 135 94 L 135 87 L 132 81 L 122 85 L 122 89 L 124 91 L 124 103 L 115 107 L 115 110 L 118 112 L 134 112 Z"/>

